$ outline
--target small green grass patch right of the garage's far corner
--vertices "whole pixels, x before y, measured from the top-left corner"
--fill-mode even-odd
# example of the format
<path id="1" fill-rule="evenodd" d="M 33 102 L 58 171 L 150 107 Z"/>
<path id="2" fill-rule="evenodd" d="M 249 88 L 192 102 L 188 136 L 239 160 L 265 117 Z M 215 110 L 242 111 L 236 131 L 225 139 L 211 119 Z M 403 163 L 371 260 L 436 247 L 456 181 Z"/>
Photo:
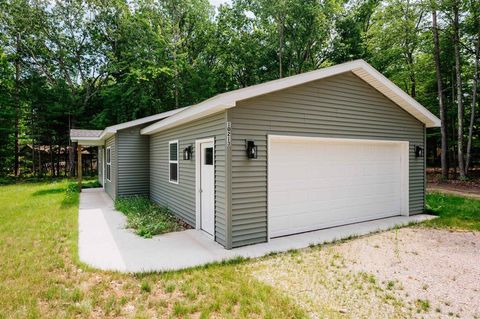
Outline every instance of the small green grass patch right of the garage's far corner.
<path id="1" fill-rule="evenodd" d="M 438 218 L 422 225 L 461 230 L 480 230 L 480 200 L 440 193 L 427 194 L 427 212 Z"/>

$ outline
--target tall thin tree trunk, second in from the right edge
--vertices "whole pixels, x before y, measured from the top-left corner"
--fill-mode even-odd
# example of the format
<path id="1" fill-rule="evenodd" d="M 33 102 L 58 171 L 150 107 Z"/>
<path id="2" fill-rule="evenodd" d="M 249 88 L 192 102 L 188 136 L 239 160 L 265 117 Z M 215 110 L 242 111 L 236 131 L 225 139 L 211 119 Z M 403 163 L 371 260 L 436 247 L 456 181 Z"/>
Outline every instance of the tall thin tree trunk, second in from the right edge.
<path id="1" fill-rule="evenodd" d="M 455 76 L 457 82 L 457 144 L 458 144 L 458 173 L 460 178 L 465 178 L 465 163 L 463 156 L 463 116 L 464 116 L 464 106 L 463 106 L 463 94 L 462 94 L 462 71 L 460 65 L 460 31 L 459 31 L 459 22 L 458 22 L 458 0 L 455 0 L 453 3 L 453 42 L 455 50 Z"/>

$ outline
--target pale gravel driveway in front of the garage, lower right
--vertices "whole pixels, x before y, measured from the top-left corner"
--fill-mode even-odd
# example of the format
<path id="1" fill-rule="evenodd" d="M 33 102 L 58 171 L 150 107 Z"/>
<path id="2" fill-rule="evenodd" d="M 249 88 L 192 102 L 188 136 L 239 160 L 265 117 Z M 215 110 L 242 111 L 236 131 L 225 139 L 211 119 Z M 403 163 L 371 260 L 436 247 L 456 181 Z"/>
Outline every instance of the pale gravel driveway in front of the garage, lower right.
<path id="1" fill-rule="evenodd" d="M 251 267 L 313 318 L 480 318 L 479 232 L 402 228 Z"/>

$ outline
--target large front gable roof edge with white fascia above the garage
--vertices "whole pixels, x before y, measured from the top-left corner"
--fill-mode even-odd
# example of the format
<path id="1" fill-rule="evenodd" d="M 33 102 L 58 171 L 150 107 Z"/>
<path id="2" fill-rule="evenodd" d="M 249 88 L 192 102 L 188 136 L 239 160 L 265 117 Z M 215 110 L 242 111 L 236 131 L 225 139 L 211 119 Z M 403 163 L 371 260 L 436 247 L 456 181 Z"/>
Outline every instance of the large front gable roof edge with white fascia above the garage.
<path id="1" fill-rule="evenodd" d="M 189 106 L 183 111 L 141 130 L 141 134 L 154 134 L 190 121 L 235 107 L 237 102 L 260 95 L 284 90 L 293 86 L 320 80 L 341 73 L 353 72 L 359 78 L 377 89 L 395 104 L 424 123 L 426 127 L 440 126 L 440 119 L 423 105 L 396 86 L 364 60 L 346 62 L 324 69 L 306 72 L 258 85 L 218 94 L 208 100 Z"/>

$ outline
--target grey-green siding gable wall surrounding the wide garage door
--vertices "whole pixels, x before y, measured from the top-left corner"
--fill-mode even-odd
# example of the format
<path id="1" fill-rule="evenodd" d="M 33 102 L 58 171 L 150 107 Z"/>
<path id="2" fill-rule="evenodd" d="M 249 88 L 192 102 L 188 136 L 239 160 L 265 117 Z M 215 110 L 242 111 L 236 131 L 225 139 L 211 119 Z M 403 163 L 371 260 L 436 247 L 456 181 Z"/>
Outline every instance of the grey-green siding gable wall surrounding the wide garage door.
<path id="1" fill-rule="evenodd" d="M 297 135 L 410 142 L 410 214 L 423 212 L 425 128 L 353 73 L 246 100 L 229 110 L 232 122 L 232 247 L 267 241 L 267 135 Z M 245 140 L 258 145 L 248 160 Z"/>

